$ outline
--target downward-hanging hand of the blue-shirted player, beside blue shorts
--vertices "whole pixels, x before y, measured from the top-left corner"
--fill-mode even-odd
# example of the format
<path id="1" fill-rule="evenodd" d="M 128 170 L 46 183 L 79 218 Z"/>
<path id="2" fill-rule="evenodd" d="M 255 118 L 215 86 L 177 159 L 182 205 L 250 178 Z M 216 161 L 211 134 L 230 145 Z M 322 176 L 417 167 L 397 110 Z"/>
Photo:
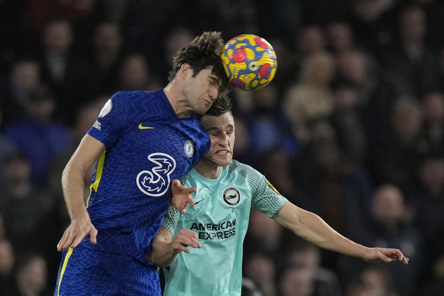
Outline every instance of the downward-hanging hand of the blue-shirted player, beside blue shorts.
<path id="1" fill-rule="evenodd" d="M 62 239 L 60 239 L 57 244 L 57 251 L 60 252 L 69 247 L 77 247 L 88 234 L 90 235 L 90 242 L 97 244 L 97 229 L 93 223 L 91 223 L 89 216 L 71 220 L 71 224 L 65 230 Z"/>

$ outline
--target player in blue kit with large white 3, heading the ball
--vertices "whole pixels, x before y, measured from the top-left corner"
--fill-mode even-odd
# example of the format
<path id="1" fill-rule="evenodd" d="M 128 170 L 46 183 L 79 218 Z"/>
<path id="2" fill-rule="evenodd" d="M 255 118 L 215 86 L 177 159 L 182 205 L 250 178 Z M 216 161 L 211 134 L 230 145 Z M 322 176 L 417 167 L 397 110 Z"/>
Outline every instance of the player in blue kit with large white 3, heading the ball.
<path id="1" fill-rule="evenodd" d="M 165 88 L 121 91 L 105 104 L 63 172 L 71 223 L 57 245 L 63 253 L 54 295 L 160 295 L 150 243 L 171 181 L 210 147 L 194 114 L 226 91 L 223 45 L 220 32 L 204 32 L 174 57 Z M 83 175 L 94 164 L 84 201 Z"/>

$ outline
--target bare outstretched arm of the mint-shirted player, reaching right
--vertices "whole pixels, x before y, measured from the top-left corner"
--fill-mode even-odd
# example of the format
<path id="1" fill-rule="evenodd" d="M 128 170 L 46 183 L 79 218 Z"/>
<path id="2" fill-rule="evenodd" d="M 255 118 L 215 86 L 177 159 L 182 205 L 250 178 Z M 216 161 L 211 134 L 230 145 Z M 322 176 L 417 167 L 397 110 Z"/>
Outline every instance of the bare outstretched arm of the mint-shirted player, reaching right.
<path id="1" fill-rule="evenodd" d="M 330 227 L 316 214 L 303 210 L 291 202 L 285 203 L 276 212 L 273 219 L 301 236 L 301 238 L 323 249 L 359 257 L 369 262 L 381 260 L 384 262 L 400 261 L 404 264 L 408 263 L 408 258 L 400 250 L 368 248 L 354 243 Z"/>

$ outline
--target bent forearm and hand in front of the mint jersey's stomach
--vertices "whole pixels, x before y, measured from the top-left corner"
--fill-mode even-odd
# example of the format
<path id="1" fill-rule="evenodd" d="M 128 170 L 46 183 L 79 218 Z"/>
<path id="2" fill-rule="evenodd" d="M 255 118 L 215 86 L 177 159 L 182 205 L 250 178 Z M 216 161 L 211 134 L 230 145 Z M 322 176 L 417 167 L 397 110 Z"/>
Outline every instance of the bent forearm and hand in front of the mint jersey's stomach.
<path id="1" fill-rule="evenodd" d="M 190 253 L 187 247 L 201 248 L 194 231 L 182 228 L 172 240 L 172 233 L 161 226 L 151 242 L 151 260 L 158 267 L 169 266 L 180 252 Z"/>

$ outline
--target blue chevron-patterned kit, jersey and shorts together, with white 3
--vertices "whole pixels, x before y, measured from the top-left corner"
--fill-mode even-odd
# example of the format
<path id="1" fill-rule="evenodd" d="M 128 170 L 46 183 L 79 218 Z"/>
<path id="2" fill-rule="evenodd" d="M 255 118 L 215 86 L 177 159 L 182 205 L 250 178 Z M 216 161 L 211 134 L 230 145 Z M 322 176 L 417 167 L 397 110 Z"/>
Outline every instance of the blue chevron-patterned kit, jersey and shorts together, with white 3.
<path id="1" fill-rule="evenodd" d="M 163 90 L 114 94 L 88 134 L 106 146 L 86 201 L 97 244 L 63 252 L 54 295 L 160 295 L 150 243 L 171 181 L 208 152 L 209 135 L 177 118 Z"/>

